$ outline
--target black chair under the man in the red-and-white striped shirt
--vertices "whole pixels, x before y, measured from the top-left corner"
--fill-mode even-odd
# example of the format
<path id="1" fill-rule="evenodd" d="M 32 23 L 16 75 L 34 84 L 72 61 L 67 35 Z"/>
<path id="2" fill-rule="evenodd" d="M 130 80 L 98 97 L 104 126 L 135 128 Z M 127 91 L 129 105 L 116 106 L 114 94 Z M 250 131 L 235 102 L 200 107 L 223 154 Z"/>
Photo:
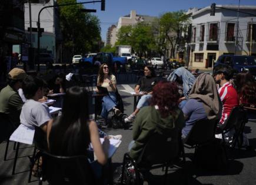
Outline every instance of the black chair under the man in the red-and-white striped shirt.
<path id="1" fill-rule="evenodd" d="M 225 143 L 225 134 L 230 132 L 231 130 L 235 130 L 232 143 L 226 143 L 232 148 L 234 148 L 238 142 L 238 147 L 242 146 L 242 133 L 244 132 L 245 123 L 248 122 L 247 112 L 242 109 L 242 107 L 234 107 L 231 110 L 230 116 L 228 116 L 227 120 L 223 125 L 217 126 L 216 134 L 222 135 L 222 141 Z"/>

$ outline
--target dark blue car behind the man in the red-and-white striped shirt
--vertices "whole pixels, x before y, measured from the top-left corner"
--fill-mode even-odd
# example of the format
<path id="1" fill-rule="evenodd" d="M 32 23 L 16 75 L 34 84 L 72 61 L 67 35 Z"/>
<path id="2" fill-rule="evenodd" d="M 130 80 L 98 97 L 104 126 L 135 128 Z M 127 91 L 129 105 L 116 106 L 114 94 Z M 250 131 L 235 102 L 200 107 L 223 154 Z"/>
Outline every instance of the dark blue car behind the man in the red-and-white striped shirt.
<path id="1" fill-rule="evenodd" d="M 214 65 L 231 66 L 235 73 L 249 71 L 256 79 L 256 59 L 254 56 L 245 55 L 221 55 Z"/>

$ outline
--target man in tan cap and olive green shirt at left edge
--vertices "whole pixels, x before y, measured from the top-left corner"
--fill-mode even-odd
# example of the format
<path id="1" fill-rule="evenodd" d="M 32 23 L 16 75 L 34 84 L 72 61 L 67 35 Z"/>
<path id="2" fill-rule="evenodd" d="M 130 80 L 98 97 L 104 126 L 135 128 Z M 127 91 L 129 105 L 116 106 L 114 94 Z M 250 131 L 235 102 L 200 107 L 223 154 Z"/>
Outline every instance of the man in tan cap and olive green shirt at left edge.
<path id="1" fill-rule="evenodd" d="M 18 94 L 18 89 L 21 88 L 25 77 L 26 73 L 23 69 L 12 69 L 7 76 L 8 85 L 0 92 L 0 113 L 8 116 L 13 127 L 18 127 L 20 123 L 19 115 L 24 103 Z"/>

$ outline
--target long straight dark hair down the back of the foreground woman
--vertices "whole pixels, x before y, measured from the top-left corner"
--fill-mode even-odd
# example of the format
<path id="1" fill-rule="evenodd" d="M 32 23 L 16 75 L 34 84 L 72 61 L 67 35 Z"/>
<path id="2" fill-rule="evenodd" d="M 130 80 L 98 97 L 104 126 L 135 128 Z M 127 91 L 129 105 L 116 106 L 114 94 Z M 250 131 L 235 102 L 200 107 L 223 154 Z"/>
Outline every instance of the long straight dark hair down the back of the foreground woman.
<path id="1" fill-rule="evenodd" d="M 62 115 L 55 120 L 49 135 L 50 151 L 56 155 L 85 154 L 89 144 L 88 96 L 74 86 L 64 96 Z"/>

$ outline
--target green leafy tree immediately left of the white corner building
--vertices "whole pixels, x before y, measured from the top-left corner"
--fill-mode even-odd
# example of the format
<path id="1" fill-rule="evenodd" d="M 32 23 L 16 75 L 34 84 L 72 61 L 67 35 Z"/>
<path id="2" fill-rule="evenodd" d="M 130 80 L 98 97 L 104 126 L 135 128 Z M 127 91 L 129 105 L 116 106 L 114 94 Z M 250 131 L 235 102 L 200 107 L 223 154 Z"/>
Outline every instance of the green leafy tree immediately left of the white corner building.
<path id="1" fill-rule="evenodd" d="M 181 32 L 188 25 L 188 15 L 184 11 L 167 12 L 159 18 L 159 35 L 161 43 L 166 41 L 171 46 L 171 58 L 175 58 L 175 48 L 184 41 Z"/>

